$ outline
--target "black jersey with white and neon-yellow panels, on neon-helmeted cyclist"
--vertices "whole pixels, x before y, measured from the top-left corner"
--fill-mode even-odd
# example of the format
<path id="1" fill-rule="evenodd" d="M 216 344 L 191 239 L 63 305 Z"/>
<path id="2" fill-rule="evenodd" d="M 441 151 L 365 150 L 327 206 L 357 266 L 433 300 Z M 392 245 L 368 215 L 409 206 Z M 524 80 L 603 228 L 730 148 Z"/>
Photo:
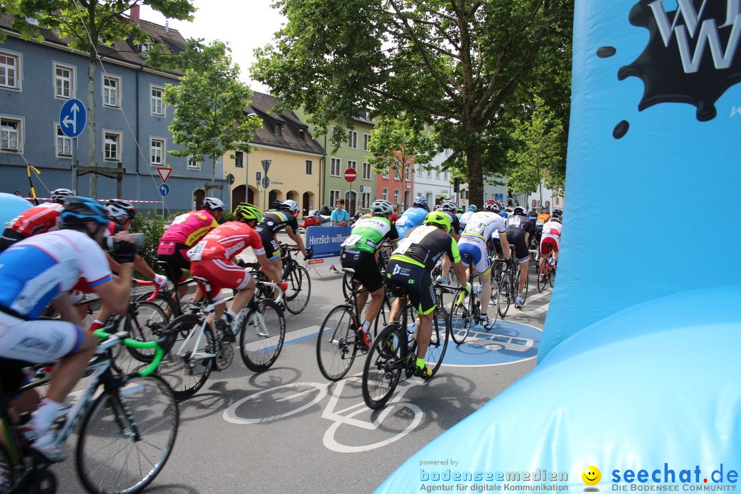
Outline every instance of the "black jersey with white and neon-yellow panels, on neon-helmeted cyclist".
<path id="1" fill-rule="evenodd" d="M 448 254 L 454 263 L 461 260 L 454 238 L 438 227 L 423 225 L 399 241 L 399 247 L 391 253 L 391 259 L 416 264 L 432 272 L 443 254 Z"/>

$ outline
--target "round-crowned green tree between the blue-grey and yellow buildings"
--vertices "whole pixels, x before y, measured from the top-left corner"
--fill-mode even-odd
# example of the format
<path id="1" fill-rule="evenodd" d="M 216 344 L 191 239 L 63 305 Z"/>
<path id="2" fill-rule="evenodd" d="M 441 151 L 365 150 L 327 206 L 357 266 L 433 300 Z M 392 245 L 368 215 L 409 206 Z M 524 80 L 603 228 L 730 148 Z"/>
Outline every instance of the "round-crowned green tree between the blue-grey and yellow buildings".
<path id="1" fill-rule="evenodd" d="M 239 81 L 239 66 L 232 63 L 230 49 L 222 41 L 204 46 L 188 40 L 182 58 L 170 61 L 187 67 L 180 84 L 165 86 L 165 101 L 175 105 L 170 124 L 173 142 L 184 144 L 173 156 L 190 156 L 193 161 L 211 158 L 211 187 L 216 187 L 216 159 L 226 151 L 250 152 L 249 141 L 262 127 L 257 116 L 245 115 L 250 89 Z"/>

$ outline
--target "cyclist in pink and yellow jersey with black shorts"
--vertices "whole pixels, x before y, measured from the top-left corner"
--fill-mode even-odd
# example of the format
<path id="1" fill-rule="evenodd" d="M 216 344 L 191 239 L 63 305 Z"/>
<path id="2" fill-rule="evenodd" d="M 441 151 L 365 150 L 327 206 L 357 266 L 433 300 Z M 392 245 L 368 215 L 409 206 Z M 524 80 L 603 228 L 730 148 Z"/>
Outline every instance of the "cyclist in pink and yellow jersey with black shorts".
<path id="1" fill-rule="evenodd" d="M 172 267 L 173 283 L 178 284 L 185 281 L 183 270 L 190 270 L 190 259 L 187 251 L 197 244 L 206 233 L 219 226 L 219 218 L 222 217 L 225 207 L 221 199 L 207 197 L 203 200 L 200 210 L 184 213 L 173 219 L 173 223 L 165 231 L 165 235 L 159 239 L 157 247 L 157 258 L 166 261 Z M 187 286 L 178 288 L 180 298 L 187 293 Z M 196 290 L 194 300 L 198 300 L 200 294 Z"/>

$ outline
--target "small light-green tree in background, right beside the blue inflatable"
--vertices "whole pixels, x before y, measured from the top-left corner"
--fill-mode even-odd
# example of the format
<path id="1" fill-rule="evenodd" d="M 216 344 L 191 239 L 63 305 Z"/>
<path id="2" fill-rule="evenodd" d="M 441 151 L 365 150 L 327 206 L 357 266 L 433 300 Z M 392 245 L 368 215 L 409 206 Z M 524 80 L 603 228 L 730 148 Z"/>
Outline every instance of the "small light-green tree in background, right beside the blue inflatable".
<path id="1" fill-rule="evenodd" d="M 513 137 L 519 147 L 509 152 L 512 166 L 508 184 L 511 189 L 520 193 L 540 190 L 542 201 L 544 181 L 552 190 L 560 190 L 564 185 L 564 131 L 561 121 L 555 118 L 551 108 L 545 106 L 545 101 L 537 96 L 529 116 L 529 119 L 513 121 Z"/>

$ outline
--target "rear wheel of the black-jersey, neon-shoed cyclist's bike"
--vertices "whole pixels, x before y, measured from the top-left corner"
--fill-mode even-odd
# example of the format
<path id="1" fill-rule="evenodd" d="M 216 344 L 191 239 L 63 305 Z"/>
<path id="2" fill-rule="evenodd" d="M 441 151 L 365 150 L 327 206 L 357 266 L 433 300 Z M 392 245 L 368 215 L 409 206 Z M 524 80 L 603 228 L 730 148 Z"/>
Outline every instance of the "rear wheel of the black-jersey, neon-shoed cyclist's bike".
<path id="1" fill-rule="evenodd" d="M 363 365 L 363 399 L 373 410 L 384 406 L 402 375 L 402 346 L 406 335 L 402 334 L 399 324 L 392 323 L 385 327 L 378 338 L 371 344 L 368 357 Z"/>

